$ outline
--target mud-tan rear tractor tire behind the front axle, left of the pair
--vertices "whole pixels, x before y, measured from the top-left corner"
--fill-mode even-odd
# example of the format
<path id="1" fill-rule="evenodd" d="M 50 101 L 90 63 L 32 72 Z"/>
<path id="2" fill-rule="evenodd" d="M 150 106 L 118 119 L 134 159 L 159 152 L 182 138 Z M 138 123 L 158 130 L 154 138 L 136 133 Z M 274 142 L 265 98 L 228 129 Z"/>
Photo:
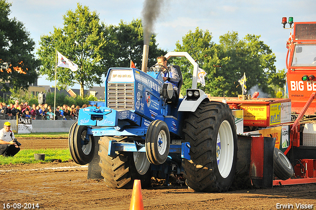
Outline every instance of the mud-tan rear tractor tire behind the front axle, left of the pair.
<path id="1" fill-rule="evenodd" d="M 131 189 L 135 179 L 141 180 L 142 188 L 149 187 L 152 176 L 145 152 L 120 152 L 116 158 L 112 158 L 108 156 L 110 140 L 127 142 L 129 139 L 108 136 L 99 139 L 99 166 L 107 187 Z M 140 158 L 136 159 L 137 157 Z"/>

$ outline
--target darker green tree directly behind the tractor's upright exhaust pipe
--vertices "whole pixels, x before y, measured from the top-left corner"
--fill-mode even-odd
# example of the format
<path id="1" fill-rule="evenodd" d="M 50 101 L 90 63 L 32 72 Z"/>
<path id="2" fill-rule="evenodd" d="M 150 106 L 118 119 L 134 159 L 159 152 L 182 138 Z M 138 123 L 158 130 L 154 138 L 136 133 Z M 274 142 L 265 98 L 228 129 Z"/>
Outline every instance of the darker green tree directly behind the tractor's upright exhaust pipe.
<path id="1" fill-rule="evenodd" d="M 121 20 L 118 26 L 111 25 L 109 37 L 116 44 L 114 47 L 116 66 L 129 67 L 130 60 L 132 60 L 136 68 L 141 69 L 144 46 L 141 20 L 132 20 L 131 23 Z M 148 66 L 154 65 L 157 62 L 156 58 L 165 53 L 164 50 L 158 48 L 156 35 L 153 34 L 149 44 Z"/>

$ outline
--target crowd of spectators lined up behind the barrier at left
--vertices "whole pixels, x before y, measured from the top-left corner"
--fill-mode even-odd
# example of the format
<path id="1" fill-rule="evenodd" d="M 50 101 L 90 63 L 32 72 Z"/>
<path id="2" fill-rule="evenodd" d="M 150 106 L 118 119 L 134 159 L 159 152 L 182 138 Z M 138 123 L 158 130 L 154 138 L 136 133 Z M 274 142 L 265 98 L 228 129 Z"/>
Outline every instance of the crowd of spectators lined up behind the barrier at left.
<path id="1" fill-rule="evenodd" d="M 4 102 L 0 102 L 0 120 L 12 120 L 16 117 L 32 118 L 33 120 L 78 120 L 79 109 L 85 108 L 91 105 L 83 104 L 82 107 L 75 106 L 74 104 L 68 106 L 57 106 L 54 112 L 54 108 L 45 104 L 33 104 L 32 107 L 28 102 L 19 103 L 18 100 L 14 104 L 6 105 Z"/>

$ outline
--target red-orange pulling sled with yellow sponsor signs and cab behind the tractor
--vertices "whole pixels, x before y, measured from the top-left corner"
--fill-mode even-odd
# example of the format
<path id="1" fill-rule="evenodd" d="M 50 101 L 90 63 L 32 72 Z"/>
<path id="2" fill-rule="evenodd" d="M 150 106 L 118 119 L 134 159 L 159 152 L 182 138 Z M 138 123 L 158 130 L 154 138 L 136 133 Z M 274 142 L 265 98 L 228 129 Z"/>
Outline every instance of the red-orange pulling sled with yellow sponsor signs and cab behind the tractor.
<path id="1" fill-rule="evenodd" d="M 283 18 L 282 24 L 286 23 Z M 316 22 L 294 23 L 291 18 L 289 29 L 290 38 L 286 44 L 288 98 L 257 98 L 258 93 L 236 98 L 209 97 L 210 100 L 225 101 L 232 110 L 242 110 L 243 133 L 238 138 L 240 141 L 245 135 L 252 138 L 250 155 L 241 144 L 241 156 L 250 156 L 250 174 L 257 174 L 251 176 L 252 181 L 269 179 L 273 185 L 316 183 Z M 237 118 L 235 116 L 235 120 Z M 294 176 L 272 182 L 271 174 L 265 173 L 271 171 L 271 166 L 267 170 L 265 167 L 258 169 L 264 165 L 262 157 L 271 157 L 262 154 L 268 144 L 257 136 L 275 138 L 273 146 L 286 156 L 281 158 L 283 163 L 286 163 L 285 158 L 289 160 Z M 252 171 L 254 168 L 255 172 Z"/>

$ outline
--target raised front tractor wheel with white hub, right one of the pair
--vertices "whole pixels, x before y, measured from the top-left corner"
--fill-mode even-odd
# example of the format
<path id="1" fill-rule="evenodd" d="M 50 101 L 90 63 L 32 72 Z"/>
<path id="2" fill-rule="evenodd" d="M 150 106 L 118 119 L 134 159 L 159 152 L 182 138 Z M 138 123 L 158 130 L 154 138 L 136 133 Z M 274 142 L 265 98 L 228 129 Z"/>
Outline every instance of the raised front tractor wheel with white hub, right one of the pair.
<path id="1" fill-rule="evenodd" d="M 149 162 L 155 165 L 163 164 L 167 160 L 170 148 L 167 124 L 161 120 L 153 121 L 148 126 L 145 142 Z"/>

